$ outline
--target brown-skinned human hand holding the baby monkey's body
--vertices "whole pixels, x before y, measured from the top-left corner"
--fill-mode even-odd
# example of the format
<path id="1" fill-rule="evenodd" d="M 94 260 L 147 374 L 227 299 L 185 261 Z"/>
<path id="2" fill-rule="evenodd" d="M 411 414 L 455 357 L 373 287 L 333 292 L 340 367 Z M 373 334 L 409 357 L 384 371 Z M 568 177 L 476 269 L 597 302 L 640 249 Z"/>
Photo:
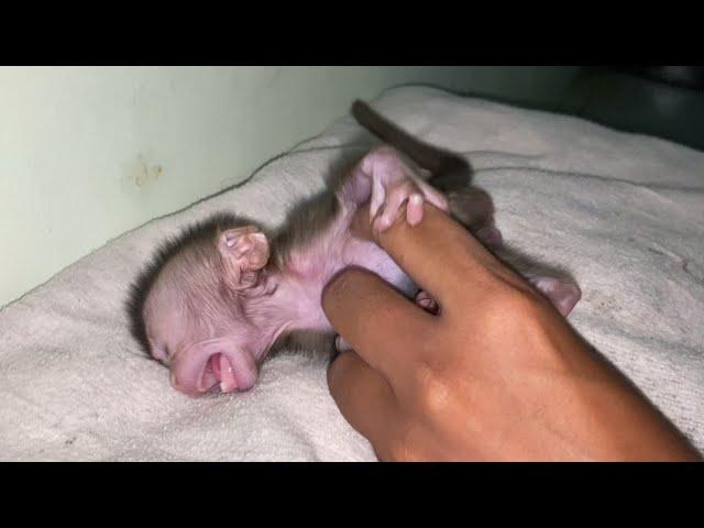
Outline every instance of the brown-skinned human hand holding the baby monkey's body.
<path id="1" fill-rule="evenodd" d="M 323 309 L 354 349 L 328 372 L 381 460 L 701 460 L 554 307 L 426 204 L 420 224 L 353 223 L 440 306 L 433 316 L 349 270 Z"/>

